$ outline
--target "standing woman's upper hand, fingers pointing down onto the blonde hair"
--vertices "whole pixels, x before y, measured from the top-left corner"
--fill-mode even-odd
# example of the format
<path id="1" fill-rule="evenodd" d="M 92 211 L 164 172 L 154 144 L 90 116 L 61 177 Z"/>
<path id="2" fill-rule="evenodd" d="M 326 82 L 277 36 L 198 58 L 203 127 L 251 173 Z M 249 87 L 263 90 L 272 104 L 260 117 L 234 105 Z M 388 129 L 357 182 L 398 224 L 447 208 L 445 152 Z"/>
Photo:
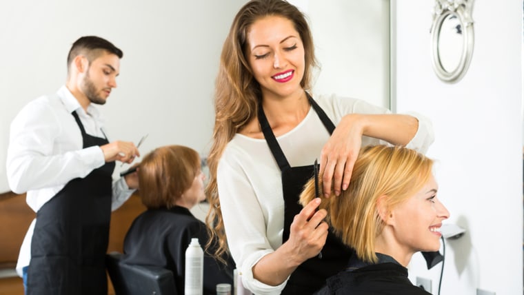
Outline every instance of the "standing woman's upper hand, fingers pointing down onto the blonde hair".
<path id="1" fill-rule="evenodd" d="M 326 198 L 332 193 L 339 196 L 350 185 L 353 165 L 362 145 L 363 119 L 365 116 L 360 114 L 344 116 L 322 148 L 320 174 L 323 175 L 323 192 Z"/>

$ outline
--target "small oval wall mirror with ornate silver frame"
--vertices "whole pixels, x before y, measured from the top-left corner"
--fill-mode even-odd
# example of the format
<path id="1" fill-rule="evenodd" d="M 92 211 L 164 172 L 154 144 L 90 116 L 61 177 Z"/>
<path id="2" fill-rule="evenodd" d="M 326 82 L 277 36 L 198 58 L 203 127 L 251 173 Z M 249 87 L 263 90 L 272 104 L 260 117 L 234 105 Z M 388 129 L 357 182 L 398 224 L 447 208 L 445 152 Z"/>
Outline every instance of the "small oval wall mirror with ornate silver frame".
<path id="1" fill-rule="evenodd" d="M 432 61 L 436 75 L 447 83 L 464 76 L 473 55 L 474 0 L 436 0 L 432 35 Z"/>

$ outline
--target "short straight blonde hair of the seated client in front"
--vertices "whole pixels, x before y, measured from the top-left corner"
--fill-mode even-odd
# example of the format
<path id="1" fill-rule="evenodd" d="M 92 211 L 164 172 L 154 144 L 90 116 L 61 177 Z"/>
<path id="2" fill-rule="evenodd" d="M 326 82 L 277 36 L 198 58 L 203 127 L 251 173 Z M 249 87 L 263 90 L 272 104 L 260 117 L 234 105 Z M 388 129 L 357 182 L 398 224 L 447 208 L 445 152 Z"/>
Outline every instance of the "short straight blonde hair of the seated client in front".
<path id="1" fill-rule="evenodd" d="M 433 161 L 415 150 L 367 146 L 355 161 L 347 190 L 330 199 L 322 197 L 320 207 L 328 211 L 327 221 L 341 241 L 363 261 L 376 263 L 375 240 L 384 227 L 377 200 L 387 196 L 383 202 L 391 210 L 422 189 L 432 176 L 432 167 Z M 322 190 L 322 183 L 319 188 Z M 306 205 L 315 197 L 314 179 L 310 179 L 300 203 Z"/>

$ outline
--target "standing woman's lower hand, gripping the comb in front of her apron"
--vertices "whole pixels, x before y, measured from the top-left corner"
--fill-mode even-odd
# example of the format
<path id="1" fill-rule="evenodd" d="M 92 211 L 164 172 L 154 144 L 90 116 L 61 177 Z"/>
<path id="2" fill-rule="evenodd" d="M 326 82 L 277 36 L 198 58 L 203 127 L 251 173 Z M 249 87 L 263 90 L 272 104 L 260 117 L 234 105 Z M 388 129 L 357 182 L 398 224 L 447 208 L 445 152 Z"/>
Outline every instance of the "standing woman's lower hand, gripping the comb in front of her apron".
<path id="1" fill-rule="evenodd" d="M 305 205 L 299 214 L 296 214 L 290 227 L 290 238 L 285 242 L 290 247 L 290 258 L 298 265 L 318 255 L 328 238 L 328 223 L 324 218 L 325 210 L 316 211 L 320 199 L 313 199 Z"/>

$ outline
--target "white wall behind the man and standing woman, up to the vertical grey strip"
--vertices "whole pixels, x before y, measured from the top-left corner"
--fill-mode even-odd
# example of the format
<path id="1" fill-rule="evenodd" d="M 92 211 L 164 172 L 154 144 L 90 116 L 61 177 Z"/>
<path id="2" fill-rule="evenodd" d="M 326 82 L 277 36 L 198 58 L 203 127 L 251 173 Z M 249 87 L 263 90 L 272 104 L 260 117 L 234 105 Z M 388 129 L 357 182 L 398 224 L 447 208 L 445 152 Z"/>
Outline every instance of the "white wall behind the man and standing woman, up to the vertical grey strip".
<path id="1" fill-rule="evenodd" d="M 65 83 L 68 50 L 85 34 L 104 37 L 124 52 L 119 87 L 100 108 L 110 139 L 136 143 L 148 133 L 143 154 L 167 144 L 207 153 L 219 54 L 234 14 L 245 2 L 1 1 L 0 192 L 9 190 L 5 159 L 10 121 L 28 101 Z M 292 2 L 311 21 L 322 66 L 314 92 L 387 106 L 389 1 Z"/>

